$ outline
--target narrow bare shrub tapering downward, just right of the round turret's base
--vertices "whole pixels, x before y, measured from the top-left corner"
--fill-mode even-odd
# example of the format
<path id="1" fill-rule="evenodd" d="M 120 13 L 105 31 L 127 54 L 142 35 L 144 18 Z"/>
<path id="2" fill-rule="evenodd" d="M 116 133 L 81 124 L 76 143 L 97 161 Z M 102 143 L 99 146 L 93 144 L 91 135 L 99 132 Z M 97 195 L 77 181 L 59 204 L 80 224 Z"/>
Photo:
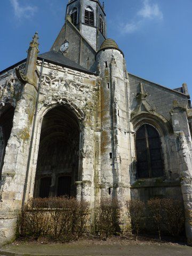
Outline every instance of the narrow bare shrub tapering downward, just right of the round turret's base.
<path id="1" fill-rule="evenodd" d="M 145 209 L 145 203 L 140 200 L 126 201 L 127 215 L 132 223 L 132 230 L 136 234 L 136 241 L 138 239 L 139 229 L 141 227 L 141 218 L 143 210 Z"/>

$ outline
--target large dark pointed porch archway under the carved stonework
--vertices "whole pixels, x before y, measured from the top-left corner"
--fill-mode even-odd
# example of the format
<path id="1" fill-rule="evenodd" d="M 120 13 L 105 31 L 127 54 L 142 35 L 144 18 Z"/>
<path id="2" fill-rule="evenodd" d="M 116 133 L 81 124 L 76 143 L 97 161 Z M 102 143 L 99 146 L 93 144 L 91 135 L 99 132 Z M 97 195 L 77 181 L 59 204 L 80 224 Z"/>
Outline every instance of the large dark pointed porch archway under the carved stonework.
<path id="1" fill-rule="evenodd" d="M 43 118 L 39 141 L 34 197 L 76 196 L 79 124 L 64 106 Z"/>

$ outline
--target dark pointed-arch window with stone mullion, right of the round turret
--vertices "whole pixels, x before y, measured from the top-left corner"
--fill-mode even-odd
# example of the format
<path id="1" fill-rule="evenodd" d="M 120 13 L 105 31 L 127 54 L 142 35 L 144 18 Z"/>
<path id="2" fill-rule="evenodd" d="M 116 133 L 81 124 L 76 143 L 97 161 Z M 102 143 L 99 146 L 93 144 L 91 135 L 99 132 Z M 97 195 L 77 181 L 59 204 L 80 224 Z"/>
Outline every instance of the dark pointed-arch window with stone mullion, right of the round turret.
<path id="1" fill-rule="evenodd" d="M 143 124 L 136 133 L 137 178 L 162 177 L 163 159 L 161 140 L 157 130 Z"/>

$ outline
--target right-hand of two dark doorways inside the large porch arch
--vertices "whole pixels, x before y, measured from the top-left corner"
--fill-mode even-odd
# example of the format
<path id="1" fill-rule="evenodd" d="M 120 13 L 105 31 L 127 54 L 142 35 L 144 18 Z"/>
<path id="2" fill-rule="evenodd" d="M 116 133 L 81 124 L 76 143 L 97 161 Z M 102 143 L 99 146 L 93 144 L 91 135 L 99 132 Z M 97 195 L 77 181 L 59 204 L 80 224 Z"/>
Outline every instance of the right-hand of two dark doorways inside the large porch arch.
<path id="1" fill-rule="evenodd" d="M 70 197 L 71 177 L 62 176 L 58 179 L 58 193 L 57 196 Z"/>

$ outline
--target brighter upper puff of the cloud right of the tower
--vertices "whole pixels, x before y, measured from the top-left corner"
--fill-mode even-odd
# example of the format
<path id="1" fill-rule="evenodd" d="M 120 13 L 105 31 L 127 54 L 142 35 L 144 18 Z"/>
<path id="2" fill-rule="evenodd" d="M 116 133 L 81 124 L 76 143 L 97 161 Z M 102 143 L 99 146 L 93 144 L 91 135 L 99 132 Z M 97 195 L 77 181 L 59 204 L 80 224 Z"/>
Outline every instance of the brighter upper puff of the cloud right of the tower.
<path id="1" fill-rule="evenodd" d="M 149 18 L 149 19 L 163 19 L 163 13 L 159 9 L 158 4 L 151 3 L 150 0 L 143 0 L 143 7 L 141 10 L 138 11 L 138 15 L 142 18 Z"/>

